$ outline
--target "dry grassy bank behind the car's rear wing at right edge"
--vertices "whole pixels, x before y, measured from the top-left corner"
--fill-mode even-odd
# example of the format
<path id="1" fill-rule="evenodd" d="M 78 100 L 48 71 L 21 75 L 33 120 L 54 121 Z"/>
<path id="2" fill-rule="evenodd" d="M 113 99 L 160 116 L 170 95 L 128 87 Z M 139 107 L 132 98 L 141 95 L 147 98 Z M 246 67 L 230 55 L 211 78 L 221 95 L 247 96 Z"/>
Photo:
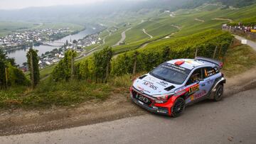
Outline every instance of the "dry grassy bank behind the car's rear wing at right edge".
<path id="1" fill-rule="evenodd" d="M 225 55 L 223 72 L 232 77 L 256 66 L 256 52 L 247 45 L 235 45 Z"/>

